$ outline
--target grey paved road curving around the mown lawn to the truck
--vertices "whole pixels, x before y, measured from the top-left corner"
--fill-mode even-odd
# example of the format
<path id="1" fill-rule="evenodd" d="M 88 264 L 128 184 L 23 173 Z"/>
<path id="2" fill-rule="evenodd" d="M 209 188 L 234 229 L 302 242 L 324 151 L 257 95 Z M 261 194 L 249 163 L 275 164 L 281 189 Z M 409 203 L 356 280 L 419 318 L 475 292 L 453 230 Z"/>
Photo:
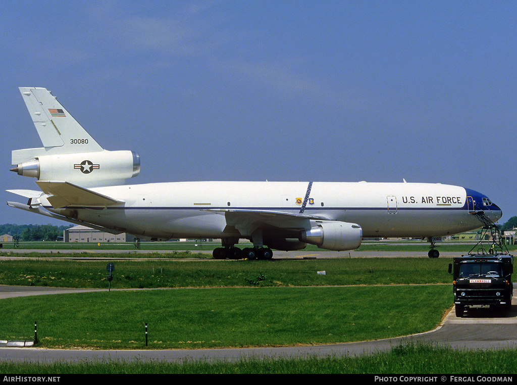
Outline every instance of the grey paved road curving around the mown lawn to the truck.
<path id="1" fill-rule="evenodd" d="M 105 289 L 104 289 L 105 290 Z M 25 295 L 56 294 L 88 289 L 29 288 L 0 286 L 0 299 Z M 515 299 L 514 299 L 515 302 Z M 517 305 L 505 315 L 488 309 L 469 309 L 462 318 L 451 311 L 434 331 L 418 335 L 368 342 L 296 346 L 281 348 L 195 349 L 195 350 L 58 350 L 41 348 L 0 348 L 0 361 L 14 362 L 76 362 L 95 360 L 166 361 L 227 360 L 243 358 L 340 357 L 360 356 L 388 350 L 406 343 L 425 343 L 461 349 L 517 348 Z"/>

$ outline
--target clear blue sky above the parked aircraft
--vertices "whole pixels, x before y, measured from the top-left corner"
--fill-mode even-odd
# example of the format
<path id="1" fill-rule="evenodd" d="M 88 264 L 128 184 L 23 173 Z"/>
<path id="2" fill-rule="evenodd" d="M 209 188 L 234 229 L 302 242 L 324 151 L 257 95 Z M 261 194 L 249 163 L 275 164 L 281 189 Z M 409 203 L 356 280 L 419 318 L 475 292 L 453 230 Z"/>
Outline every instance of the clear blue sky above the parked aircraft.
<path id="1" fill-rule="evenodd" d="M 45 87 L 128 183 L 460 185 L 517 215 L 517 3 L 6 1 L 0 198 L 41 142 L 18 91 Z M 0 205 L 0 223 L 64 224 Z"/>

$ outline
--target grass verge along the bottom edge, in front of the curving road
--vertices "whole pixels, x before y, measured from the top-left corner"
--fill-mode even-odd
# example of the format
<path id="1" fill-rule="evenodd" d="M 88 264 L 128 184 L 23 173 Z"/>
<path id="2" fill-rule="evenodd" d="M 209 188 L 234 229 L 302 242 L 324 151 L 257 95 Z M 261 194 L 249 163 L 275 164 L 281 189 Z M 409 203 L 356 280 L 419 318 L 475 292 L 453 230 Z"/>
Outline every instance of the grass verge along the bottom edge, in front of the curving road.
<path id="1" fill-rule="evenodd" d="M 240 362 L 187 361 L 184 363 L 117 361 L 47 364 L 0 363 L 0 373 L 16 374 L 476 374 L 470 381 L 491 375 L 511 375 L 517 367 L 514 350 L 460 351 L 426 345 L 395 347 L 364 357 L 264 359 Z M 470 377 L 469 377 L 470 378 Z M 469 378 L 464 378 L 467 381 Z M 392 382 L 399 381 L 399 377 Z M 437 378 L 434 382 L 441 381 Z M 458 380 L 456 380 L 458 381 Z M 485 380 L 486 381 L 486 380 Z M 485 382 L 483 381 L 483 382 Z M 504 381 L 504 380 L 501 380 Z M 511 381 L 511 378 L 507 379 Z M 403 377 L 400 382 L 414 383 Z M 445 381 L 443 381 L 445 382 Z M 500 381 L 498 381 L 500 382 Z"/>

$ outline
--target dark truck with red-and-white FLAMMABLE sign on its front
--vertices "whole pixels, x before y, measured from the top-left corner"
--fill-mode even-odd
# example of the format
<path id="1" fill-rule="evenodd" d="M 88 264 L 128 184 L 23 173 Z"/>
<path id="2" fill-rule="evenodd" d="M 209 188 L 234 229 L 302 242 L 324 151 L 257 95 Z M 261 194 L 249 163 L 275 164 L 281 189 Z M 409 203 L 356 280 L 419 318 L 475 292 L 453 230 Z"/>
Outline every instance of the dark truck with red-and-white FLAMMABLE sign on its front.
<path id="1" fill-rule="evenodd" d="M 480 254 L 455 257 L 449 264 L 449 273 L 453 276 L 457 317 L 463 315 L 465 306 L 490 305 L 490 308 L 510 309 L 513 256 Z"/>

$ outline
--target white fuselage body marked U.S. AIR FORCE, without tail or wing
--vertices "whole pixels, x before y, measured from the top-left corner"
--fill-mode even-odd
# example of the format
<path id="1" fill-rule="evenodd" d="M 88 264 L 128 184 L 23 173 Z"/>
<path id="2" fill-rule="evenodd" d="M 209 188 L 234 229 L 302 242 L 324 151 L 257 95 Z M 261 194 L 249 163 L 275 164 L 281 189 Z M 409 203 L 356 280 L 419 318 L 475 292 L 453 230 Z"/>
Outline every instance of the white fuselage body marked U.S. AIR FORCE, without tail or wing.
<path id="1" fill-rule="evenodd" d="M 249 238 L 225 212 L 272 211 L 355 223 L 364 237 L 431 237 L 480 228 L 463 187 L 428 183 L 175 182 L 92 188 L 124 201 L 102 209 L 52 212 L 134 235 Z M 209 211 L 211 210 L 211 211 Z M 223 211 L 224 210 L 224 211 Z M 500 211 L 489 212 L 492 220 Z"/>

